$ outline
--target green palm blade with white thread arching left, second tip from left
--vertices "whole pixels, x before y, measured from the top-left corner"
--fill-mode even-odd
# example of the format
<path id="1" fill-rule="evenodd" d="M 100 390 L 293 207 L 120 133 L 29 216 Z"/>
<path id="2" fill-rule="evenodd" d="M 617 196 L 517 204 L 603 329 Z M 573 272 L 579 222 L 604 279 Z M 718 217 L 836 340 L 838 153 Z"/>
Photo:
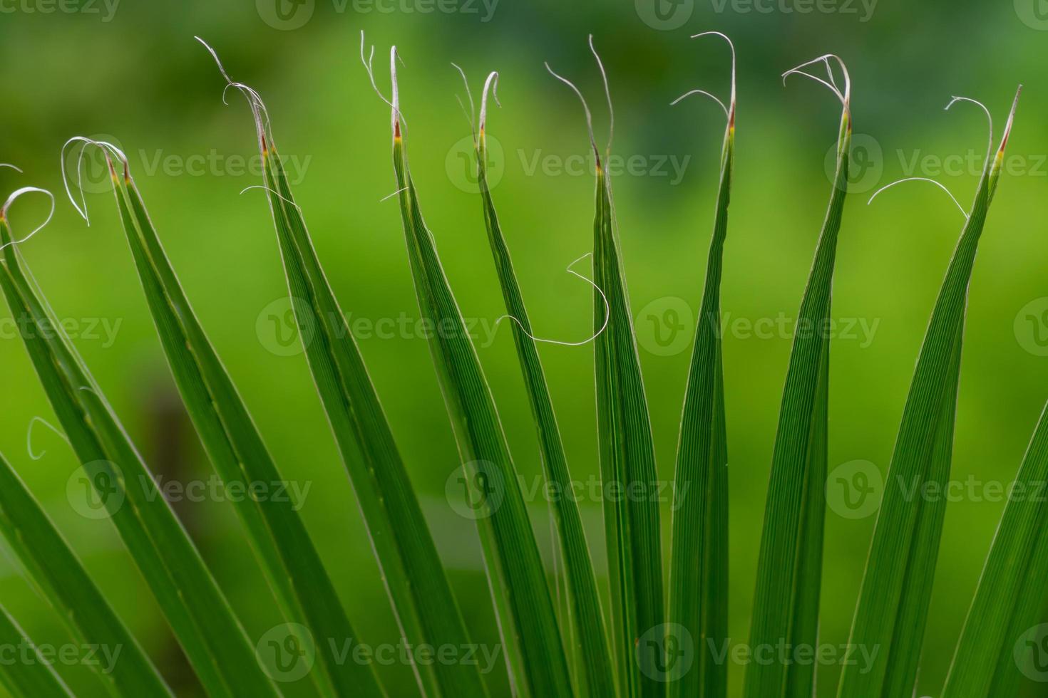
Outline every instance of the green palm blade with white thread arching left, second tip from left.
<path id="1" fill-rule="evenodd" d="M 108 154 L 107 154 L 108 158 Z M 252 421 L 233 380 L 208 340 L 182 291 L 145 202 L 123 162 L 114 187 L 121 220 L 149 309 L 187 410 L 219 476 L 231 491 L 250 492 L 286 483 Z M 283 488 L 293 491 L 290 488 Z M 336 643 L 356 637 L 320 555 L 290 497 L 234 498 L 237 514 L 285 618 L 312 633 L 320 671 L 311 672 L 324 695 L 350 695 L 373 680 L 365 665 L 340 661 Z"/>

